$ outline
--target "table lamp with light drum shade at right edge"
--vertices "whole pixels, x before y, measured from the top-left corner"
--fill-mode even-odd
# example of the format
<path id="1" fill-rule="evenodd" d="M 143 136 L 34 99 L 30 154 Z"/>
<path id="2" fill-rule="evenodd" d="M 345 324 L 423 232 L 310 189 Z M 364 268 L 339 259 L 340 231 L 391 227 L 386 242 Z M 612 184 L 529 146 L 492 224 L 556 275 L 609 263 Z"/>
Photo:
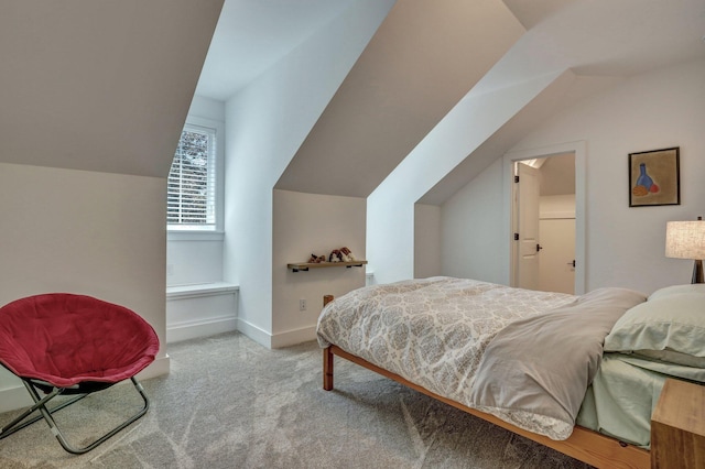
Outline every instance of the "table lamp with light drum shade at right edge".
<path id="1" fill-rule="evenodd" d="M 691 283 L 705 283 L 703 259 L 705 258 L 705 221 L 669 221 L 665 225 L 666 258 L 692 259 L 693 279 Z"/>

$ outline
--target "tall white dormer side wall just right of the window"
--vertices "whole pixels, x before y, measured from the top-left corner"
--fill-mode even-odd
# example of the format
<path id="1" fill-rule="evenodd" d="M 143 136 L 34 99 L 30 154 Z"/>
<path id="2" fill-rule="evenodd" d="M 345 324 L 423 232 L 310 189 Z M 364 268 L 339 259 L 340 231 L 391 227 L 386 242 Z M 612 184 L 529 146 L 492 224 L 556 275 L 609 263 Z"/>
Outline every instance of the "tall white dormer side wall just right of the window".
<path id="1" fill-rule="evenodd" d="M 267 347 L 273 187 L 392 3 L 357 2 L 226 103 L 224 280 L 240 285 L 238 327 Z"/>

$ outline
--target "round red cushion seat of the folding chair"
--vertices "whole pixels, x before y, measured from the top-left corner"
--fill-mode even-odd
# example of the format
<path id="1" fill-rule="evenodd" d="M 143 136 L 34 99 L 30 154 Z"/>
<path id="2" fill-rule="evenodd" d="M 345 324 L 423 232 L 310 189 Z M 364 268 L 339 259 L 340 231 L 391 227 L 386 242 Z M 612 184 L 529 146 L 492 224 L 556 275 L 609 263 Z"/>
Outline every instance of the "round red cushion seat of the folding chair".
<path id="1" fill-rule="evenodd" d="M 152 326 L 123 306 L 68 293 L 17 299 L 0 308 L 0 363 L 57 388 L 117 383 L 159 352 Z"/>

